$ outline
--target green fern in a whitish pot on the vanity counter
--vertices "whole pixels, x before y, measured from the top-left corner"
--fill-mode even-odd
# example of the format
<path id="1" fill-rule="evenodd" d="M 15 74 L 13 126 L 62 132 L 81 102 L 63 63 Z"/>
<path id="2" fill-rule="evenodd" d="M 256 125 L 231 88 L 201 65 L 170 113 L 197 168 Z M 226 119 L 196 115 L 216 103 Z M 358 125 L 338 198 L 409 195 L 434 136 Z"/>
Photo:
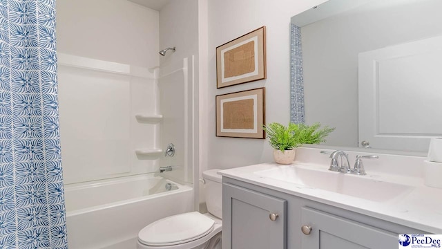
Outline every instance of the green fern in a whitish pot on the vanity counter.
<path id="1" fill-rule="evenodd" d="M 269 143 L 273 147 L 273 158 L 276 163 L 291 164 L 295 159 L 296 148 L 305 144 L 320 144 L 335 128 L 327 126 L 320 129 L 321 124 L 311 125 L 294 124 L 289 122 L 288 127 L 278 123 L 263 125 Z"/>

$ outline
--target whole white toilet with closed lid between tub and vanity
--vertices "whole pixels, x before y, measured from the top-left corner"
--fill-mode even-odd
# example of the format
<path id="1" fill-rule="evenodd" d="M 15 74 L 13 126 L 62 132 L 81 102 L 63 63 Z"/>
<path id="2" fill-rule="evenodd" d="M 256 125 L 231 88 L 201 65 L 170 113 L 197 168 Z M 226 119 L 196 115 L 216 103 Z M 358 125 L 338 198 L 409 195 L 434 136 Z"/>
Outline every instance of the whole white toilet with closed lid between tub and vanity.
<path id="1" fill-rule="evenodd" d="M 221 249 L 222 176 L 202 172 L 209 213 L 188 212 L 155 221 L 138 233 L 138 249 Z"/>

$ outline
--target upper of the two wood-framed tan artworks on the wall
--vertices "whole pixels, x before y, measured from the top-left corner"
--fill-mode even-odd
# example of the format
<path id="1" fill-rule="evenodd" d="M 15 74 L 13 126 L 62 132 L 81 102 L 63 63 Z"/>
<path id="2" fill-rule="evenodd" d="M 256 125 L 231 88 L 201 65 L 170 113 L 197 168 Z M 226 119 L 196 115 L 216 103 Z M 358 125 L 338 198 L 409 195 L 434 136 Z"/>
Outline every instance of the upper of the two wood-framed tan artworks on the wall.
<path id="1" fill-rule="evenodd" d="M 265 26 L 216 48 L 216 87 L 266 78 Z"/>

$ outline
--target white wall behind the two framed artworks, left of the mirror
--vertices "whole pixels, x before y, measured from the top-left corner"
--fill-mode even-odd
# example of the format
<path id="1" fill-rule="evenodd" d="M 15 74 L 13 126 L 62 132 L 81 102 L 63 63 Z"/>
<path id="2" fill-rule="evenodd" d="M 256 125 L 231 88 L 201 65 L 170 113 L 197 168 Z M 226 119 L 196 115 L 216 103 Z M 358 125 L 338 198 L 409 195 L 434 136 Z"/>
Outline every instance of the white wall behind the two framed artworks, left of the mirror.
<path id="1" fill-rule="evenodd" d="M 200 153 L 206 154 L 209 169 L 240 167 L 272 161 L 267 140 L 215 137 L 215 95 L 265 86 L 265 120 L 289 122 L 289 24 L 290 17 L 322 3 L 324 0 L 209 0 L 208 1 L 208 77 L 206 98 L 200 98 L 200 115 L 204 113 Z M 267 33 L 267 80 L 216 89 L 215 48 L 261 26 Z M 204 101 L 204 102 L 203 102 Z M 202 120 L 202 121 L 204 121 Z M 204 167 L 202 162 L 201 167 Z"/>

